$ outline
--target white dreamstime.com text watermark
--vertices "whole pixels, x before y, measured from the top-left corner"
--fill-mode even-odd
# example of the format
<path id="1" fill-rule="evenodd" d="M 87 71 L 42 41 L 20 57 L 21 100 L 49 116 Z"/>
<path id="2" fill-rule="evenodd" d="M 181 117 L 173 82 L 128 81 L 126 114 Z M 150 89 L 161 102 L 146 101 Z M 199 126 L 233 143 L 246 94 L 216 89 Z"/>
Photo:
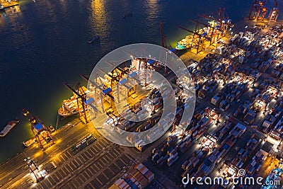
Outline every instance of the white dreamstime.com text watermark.
<path id="1" fill-rule="evenodd" d="M 229 184 L 233 184 L 233 185 L 273 185 L 273 186 L 277 186 L 280 185 L 280 181 L 279 180 L 269 180 L 266 179 L 264 180 L 264 178 L 262 177 L 251 177 L 251 176 L 246 176 L 246 171 L 245 169 L 241 168 L 238 171 L 238 174 L 234 177 L 221 177 L 221 176 L 216 176 L 214 178 L 211 178 L 209 176 L 207 177 L 190 177 L 189 174 L 187 174 L 187 176 L 184 176 L 182 178 L 182 183 L 184 185 L 229 185 Z M 276 188 L 276 187 L 275 187 Z"/>

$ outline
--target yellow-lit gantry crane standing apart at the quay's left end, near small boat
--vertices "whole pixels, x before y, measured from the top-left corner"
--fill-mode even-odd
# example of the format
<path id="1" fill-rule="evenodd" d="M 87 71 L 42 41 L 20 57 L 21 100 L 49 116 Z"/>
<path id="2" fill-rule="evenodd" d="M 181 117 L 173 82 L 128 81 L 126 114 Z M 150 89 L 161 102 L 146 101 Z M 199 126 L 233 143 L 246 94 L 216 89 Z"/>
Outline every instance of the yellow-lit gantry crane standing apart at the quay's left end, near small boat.
<path id="1" fill-rule="evenodd" d="M 36 116 L 33 116 L 26 109 L 23 109 L 23 115 L 25 115 L 25 118 L 28 118 L 28 121 L 31 125 L 31 130 L 35 135 L 35 139 L 37 140 L 38 144 L 40 144 L 40 148 L 42 150 L 45 150 L 47 147 L 49 147 L 50 142 L 54 144 L 50 130 L 48 130 Z M 46 145 L 47 147 L 45 147 Z"/>

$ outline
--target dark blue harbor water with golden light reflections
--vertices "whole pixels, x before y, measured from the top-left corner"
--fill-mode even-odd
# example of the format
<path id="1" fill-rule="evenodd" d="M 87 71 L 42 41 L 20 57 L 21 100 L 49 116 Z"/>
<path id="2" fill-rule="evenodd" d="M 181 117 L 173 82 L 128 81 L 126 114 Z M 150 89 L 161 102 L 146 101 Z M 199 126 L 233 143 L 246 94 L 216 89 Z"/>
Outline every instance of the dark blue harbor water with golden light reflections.
<path id="1" fill-rule="evenodd" d="M 248 15 L 246 0 L 20 0 L 0 12 L 0 130 L 14 118 L 21 122 L 0 138 L 0 162 L 23 151 L 33 136 L 21 110 L 27 108 L 45 125 L 56 126 L 57 110 L 71 91 L 63 82 L 86 85 L 96 62 L 111 50 L 136 42 L 161 44 L 159 22 L 175 46 L 192 29 L 198 13 L 226 7 L 234 23 Z M 272 1 L 269 2 L 272 7 Z M 282 6 L 282 5 L 280 5 Z M 122 19 L 122 15 L 133 16 Z M 87 43 L 94 35 L 100 42 Z M 72 118 L 59 120 L 58 127 Z"/>

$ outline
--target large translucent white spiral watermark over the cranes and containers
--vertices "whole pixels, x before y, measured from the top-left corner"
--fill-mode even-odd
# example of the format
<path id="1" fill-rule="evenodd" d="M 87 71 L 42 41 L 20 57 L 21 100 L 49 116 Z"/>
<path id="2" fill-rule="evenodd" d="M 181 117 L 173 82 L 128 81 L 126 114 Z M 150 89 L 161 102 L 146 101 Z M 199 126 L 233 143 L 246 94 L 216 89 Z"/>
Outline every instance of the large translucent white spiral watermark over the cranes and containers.
<path id="1" fill-rule="evenodd" d="M 172 71 L 173 77 L 168 78 L 167 71 L 161 69 Z M 171 81 L 175 78 L 179 86 L 173 88 Z M 149 86 L 157 88 L 163 100 L 162 115 L 145 131 L 129 132 L 129 128 L 138 125 L 138 122 L 144 122 L 143 126 L 146 126 L 146 120 L 154 115 L 156 102 L 149 97 L 142 98 L 140 111 L 135 112 L 129 107 L 129 101 L 141 98 L 139 94 L 136 100 L 129 97 L 129 91 L 137 85 L 147 93 Z M 195 110 L 195 88 L 185 64 L 173 52 L 158 45 L 126 45 L 105 55 L 91 72 L 88 112 L 98 132 L 111 142 L 128 147 L 143 146 L 163 136 L 173 124 L 177 110 L 175 88 L 181 88 L 183 96 L 186 96 L 183 117 L 176 125 L 178 129 L 185 130 Z"/>

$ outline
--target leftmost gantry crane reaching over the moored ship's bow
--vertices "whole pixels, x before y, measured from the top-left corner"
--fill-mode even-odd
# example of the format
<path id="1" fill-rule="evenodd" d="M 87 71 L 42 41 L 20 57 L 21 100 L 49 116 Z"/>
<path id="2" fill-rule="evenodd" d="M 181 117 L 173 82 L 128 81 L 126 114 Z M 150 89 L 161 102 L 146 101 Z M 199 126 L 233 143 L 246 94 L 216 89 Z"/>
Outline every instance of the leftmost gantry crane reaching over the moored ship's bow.
<path id="1" fill-rule="evenodd" d="M 87 106 L 86 106 L 86 92 L 83 91 L 81 88 L 81 84 L 76 84 L 76 89 L 72 88 L 71 85 L 64 83 L 64 86 L 69 88 L 71 91 L 73 91 L 74 95 L 76 96 L 76 103 L 79 108 L 79 117 L 81 120 L 85 123 L 88 123 L 88 116 L 86 114 Z M 81 108 L 83 110 L 81 110 Z M 82 119 L 83 118 L 83 119 Z"/>

